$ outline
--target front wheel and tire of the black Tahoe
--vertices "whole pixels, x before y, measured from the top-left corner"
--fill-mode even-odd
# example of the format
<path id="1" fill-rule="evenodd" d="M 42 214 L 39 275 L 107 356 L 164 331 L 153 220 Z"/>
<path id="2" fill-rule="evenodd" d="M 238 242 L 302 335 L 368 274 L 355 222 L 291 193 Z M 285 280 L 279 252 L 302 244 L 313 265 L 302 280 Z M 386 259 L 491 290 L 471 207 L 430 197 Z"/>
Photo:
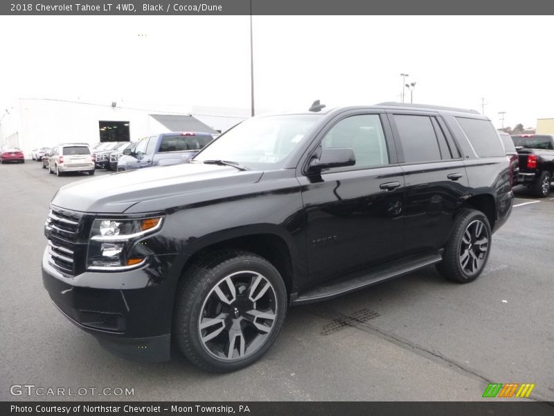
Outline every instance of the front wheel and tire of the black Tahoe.
<path id="1" fill-rule="evenodd" d="M 286 313 L 287 291 L 277 269 L 256 254 L 224 250 L 204 257 L 183 276 L 174 336 L 197 367 L 232 372 L 267 352 Z"/>

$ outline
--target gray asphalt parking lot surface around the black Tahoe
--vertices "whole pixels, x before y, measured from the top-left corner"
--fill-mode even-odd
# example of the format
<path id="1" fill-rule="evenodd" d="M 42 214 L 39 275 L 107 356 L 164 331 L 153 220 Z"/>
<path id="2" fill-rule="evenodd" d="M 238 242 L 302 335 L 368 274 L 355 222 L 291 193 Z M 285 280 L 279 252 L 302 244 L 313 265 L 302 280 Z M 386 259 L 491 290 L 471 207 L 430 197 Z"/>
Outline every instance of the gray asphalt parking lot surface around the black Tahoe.
<path id="1" fill-rule="evenodd" d="M 48 204 L 63 184 L 88 179 L 48 175 L 33 161 L 0 165 L 1 400 L 474 401 L 488 383 L 535 383 L 530 399 L 554 400 L 554 192 L 538 200 L 515 189 L 473 283 L 445 281 L 431 266 L 296 306 L 258 363 L 206 374 L 178 352 L 159 364 L 113 356 L 51 303 L 40 272 Z M 134 395 L 10 394 L 25 384 Z"/>

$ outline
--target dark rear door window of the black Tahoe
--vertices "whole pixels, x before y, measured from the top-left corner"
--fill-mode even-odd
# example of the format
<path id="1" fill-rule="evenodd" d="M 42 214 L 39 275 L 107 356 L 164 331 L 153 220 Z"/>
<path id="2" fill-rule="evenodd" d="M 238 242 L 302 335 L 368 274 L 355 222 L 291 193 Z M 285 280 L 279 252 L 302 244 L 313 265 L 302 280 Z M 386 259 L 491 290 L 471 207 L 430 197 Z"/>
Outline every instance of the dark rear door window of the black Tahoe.
<path id="1" fill-rule="evenodd" d="M 431 117 L 395 114 L 394 120 L 406 163 L 441 159 Z"/>

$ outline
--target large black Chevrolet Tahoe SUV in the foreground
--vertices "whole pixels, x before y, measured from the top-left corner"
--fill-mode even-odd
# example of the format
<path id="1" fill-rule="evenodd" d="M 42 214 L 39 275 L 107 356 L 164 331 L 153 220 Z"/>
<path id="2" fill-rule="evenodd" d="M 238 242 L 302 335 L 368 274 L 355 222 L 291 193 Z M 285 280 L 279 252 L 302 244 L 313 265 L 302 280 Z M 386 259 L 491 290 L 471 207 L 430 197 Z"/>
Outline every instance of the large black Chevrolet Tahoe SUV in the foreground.
<path id="1" fill-rule="evenodd" d="M 476 279 L 513 200 L 492 123 L 321 107 L 248 119 L 188 164 L 62 187 L 42 260 L 55 306 L 122 356 L 167 360 L 172 341 L 223 372 L 269 349 L 288 306 L 432 264 Z"/>

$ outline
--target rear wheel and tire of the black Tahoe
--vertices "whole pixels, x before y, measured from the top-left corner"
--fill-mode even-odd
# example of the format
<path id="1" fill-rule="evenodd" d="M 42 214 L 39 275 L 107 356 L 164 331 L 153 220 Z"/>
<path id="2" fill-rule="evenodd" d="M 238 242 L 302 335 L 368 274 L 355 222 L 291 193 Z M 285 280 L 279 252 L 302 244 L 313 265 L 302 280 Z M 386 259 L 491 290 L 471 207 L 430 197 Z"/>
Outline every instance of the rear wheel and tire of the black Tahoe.
<path id="1" fill-rule="evenodd" d="M 474 281 L 489 259 L 491 236 L 487 216 L 476 209 L 464 209 L 456 218 L 443 261 L 437 264 L 437 270 L 458 283 Z"/>

